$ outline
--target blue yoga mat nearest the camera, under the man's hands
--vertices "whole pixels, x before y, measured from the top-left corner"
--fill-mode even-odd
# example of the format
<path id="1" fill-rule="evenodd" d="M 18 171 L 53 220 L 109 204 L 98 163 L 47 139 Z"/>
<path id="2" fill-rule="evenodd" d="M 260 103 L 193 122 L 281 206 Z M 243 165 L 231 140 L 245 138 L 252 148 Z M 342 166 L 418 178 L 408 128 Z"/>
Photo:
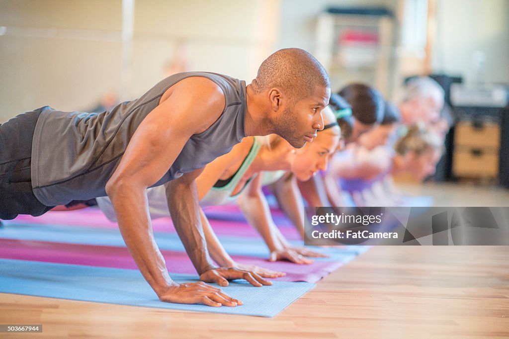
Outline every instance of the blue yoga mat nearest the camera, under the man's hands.
<path id="1" fill-rule="evenodd" d="M 172 278 L 180 283 L 197 281 L 197 276 L 186 274 L 172 274 Z M 221 288 L 244 303 L 237 307 L 174 304 L 159 301 L 138 270 L 0 259 L 2 293 L 194 312 L 274 317 L 315 286 L 282 281 L 273 284 L 257 288 L 234 281 Z"/>

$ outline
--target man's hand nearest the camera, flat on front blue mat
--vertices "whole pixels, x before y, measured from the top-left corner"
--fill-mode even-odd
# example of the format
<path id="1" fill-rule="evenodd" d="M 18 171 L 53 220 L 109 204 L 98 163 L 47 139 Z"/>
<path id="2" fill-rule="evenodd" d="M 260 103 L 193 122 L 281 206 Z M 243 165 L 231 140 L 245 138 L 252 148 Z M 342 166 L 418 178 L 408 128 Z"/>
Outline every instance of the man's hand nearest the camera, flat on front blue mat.
<path id="1" fill-rule="evenodd" d="M 179 304 L 205 304 L 207 306 L 235 307 L 242 305 L 242 301 L 233 299 L 221 292 L 220 289 L 202 283 L 174 283 L 164 292 L 159 294 L 159 300 L 164 302 L 175 302 Z"/>

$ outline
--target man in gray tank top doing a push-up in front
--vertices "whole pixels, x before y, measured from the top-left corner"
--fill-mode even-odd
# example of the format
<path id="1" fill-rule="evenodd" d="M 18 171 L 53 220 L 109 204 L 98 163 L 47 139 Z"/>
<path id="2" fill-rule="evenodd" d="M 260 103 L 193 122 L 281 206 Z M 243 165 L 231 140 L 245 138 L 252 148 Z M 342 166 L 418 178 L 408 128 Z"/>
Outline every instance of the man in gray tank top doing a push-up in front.
<path id="1" fill-rule="evenodd" d="M 323 128 L 329 96 L 322 65 L 289 48 L 270 55 L 247 86 L 215 73 L 178 73 L 100 114 L 48 106 L 26 112 L 0 125 L 0 219 L 108 195 L 127 248 L 160 300 L 236 306 L 241 302 L 219 289 L 169 277 L 146 190 L 169 182 L 168 209 L 202 281 L 270 285 L 256 274 L 214 266 L 194 179 L 248 135 L 276 133 L 296 148 L 311 142 Z"/>

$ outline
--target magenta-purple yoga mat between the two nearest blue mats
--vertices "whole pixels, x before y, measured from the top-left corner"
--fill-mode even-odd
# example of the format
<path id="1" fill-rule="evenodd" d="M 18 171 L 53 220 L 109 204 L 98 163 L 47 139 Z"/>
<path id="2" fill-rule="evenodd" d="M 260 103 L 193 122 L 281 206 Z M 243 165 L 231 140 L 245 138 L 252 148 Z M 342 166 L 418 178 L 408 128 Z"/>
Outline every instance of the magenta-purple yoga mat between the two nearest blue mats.
<path id="1" fill-rule="evenodd" d="M 162 250 L 161 253 L 169 272 L 196 274 L 185 252 Z M 0 239 L 0 258 L 137 269 L 127 248 L 117 246 Z M 239 263 L 257 265 L 287 273 L 286 276 L 274 280 L 307 281 L 308 283 L 316 283 L 322 277 L 343 265 L 341 262 L 314 262 L 310 265 L 297 265 L 289 262 L 269 262 L 261 258 L 244 256 L 233 256 L 233 259 Z"/>

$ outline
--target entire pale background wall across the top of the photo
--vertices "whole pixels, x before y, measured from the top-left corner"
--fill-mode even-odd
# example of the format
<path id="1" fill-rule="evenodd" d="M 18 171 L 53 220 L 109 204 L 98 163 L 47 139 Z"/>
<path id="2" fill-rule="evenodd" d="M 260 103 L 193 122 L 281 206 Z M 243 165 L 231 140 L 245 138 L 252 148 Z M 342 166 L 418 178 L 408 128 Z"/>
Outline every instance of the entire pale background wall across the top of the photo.
<path id="1" fill-rule="evenodd" d="M 325 8 L 385 6 L 397 11 L 401 1 L 137 0 L 128 97 L 162 78 L 177 41 L 186 45 L 189 70 L 249 81 L 278 48 L 313 51 L 316 17 Z M 487 80 L 509 82 L 509 1 L 437 3 L 434 71 L 468 80 L 472 53 L 482 50 Z M 46 104 L 87 109 L 103 93 L 119 91 L 121 9 L 121 0 L 0 0 L 0 26 L 7 27 L 0 28 L 0 123 Z"/>

